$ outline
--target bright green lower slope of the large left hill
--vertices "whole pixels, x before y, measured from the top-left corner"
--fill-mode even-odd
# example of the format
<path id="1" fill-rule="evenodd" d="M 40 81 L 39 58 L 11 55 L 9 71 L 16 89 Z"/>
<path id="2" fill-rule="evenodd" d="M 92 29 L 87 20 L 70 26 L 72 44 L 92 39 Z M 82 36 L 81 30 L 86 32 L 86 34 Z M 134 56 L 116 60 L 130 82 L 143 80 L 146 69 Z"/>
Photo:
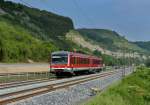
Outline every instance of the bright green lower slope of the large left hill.
<path id="1" fill-rule="evenodd" d="M 41 41 L 18 25 L 0 21 L 0 62 L 48 61 L 58 50 L 54 44 Z"/>

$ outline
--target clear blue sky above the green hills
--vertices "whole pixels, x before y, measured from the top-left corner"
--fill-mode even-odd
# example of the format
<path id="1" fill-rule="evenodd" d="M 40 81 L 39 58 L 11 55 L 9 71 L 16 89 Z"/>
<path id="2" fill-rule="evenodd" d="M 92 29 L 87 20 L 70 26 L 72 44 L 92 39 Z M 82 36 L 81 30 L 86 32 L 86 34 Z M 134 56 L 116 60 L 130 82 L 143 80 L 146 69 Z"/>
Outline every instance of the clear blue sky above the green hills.
<path id="1" fill-rule="evenodd" d="M 132 41 L 150 40 L 150 0 L 12 1 L 68 16 L 75 28 L 111 29 Z"/>

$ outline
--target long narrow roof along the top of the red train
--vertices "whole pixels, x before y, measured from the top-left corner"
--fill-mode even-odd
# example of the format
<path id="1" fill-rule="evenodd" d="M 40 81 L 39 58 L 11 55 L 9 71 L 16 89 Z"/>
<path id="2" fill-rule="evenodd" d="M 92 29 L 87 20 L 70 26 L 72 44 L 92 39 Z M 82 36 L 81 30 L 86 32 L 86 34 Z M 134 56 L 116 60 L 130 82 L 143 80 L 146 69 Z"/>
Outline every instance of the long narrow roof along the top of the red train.
<path id="1" fill-rule="evenodd" d="M 96 56 L 86 55 L 86 54 L 81 54 L 81 53 L 76 53 L 76 52 L 69 52 L 69 51 L 56 51 L 56 52 L 52 53 L 52 55 L 55 55 L 55 54 L 62 54 L 62 55 L 71 54 L 71 55 L 74 55 L 74 56 L 83 56 L 83 57 L 91 57 L 93 59 L 101 59 L 101 58 L 96 57 Z"/>

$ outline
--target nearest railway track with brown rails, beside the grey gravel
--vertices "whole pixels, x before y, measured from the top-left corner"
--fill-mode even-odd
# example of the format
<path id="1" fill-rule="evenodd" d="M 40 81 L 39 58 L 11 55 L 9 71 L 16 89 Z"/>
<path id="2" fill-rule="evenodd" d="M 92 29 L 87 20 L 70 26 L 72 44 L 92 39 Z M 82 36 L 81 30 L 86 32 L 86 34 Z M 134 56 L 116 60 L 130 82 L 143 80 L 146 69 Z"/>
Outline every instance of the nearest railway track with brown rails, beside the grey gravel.
<path id="1" fill-rule="evenodd" d="M 33 88 L 33 89 L 27 89 L 27 90 L 21 90 L 21 91 L 3 94 L 3 95 L 0 95 L 0 105 L 6 105 L 8 103 L 16 102 L 16 101 L 19 101 L 22 99 L 26 99 L 26 98 L 33 97 L 36 95 L 44 94 L 47 92 L 55 91 L 57 89 L 68 88 L 69 86 L 88 82 L 88 81 L 102 78 L 105 76 L 110 76 L 116 72 L 117 72 L 117 70 L 104 72 L 104 73 L 100 73 L 100 74 L 92 74 L 92 75 L 83 76 L 82 78 L 76 78 L 76 79 L 71 79 L 71 80 L 68 79 L 63 82 L 51 83 L 51 84 Z"/>

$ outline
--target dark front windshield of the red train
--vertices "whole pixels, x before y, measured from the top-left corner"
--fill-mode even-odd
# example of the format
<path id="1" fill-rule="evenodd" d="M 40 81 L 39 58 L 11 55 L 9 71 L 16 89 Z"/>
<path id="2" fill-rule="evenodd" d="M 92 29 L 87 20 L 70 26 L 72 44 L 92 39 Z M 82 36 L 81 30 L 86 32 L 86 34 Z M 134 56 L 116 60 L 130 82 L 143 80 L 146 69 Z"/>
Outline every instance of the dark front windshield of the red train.
<path id="1" fill-rule="evenodd" d="M 68 63 L 68 55 L 52 55 L 52 64 L 67 64 Z"/>

